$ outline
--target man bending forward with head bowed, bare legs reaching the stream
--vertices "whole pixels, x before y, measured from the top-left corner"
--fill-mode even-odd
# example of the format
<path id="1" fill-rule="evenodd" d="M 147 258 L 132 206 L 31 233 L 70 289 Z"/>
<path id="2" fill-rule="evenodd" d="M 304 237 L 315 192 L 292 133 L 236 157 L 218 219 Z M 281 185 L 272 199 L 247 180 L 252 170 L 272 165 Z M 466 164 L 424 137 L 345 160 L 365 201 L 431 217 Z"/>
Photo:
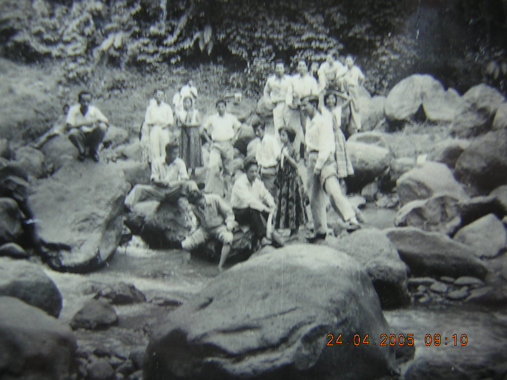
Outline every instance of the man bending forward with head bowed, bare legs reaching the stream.
<path id="1" fill-rule="evenodd" d="M 188 199 L 194 205 L 199 228 L 182 242 L 182 248 L 191 250 L 209 238 L 218 239 L 223 243 L 219 262 L 219 271 L 222 272 L 231 251 L 232 231 L 237 226 L 232 207 L 219 195 L 202 194 L 200 191 L 192 191 Z"/>

